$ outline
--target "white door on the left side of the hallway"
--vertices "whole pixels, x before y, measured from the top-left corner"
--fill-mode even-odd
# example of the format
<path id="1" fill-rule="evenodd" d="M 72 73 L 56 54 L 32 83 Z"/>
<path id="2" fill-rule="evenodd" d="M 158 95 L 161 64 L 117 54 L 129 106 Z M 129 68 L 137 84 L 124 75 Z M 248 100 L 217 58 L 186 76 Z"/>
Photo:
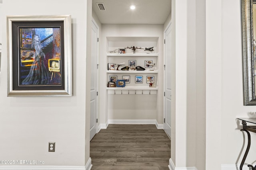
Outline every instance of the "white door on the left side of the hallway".
<path id="1" fill-rule="evenodd" d="M 98 25 L 92 21 L 90 140 L 98 130 Z"/>

